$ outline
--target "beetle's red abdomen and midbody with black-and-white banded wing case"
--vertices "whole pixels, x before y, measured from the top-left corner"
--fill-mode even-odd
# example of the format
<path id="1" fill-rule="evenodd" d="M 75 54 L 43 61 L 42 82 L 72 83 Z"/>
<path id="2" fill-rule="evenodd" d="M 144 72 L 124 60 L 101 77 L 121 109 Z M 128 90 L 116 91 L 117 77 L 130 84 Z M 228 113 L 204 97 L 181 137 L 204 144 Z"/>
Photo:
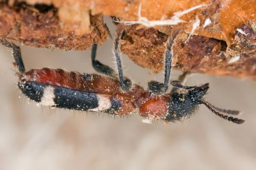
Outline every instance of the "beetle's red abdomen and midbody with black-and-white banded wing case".
<path id="1" fill-rule="evenodd" d="M 35 69 L 18 74 L 18 87 L 42 105 L 80 111 L 103 111 L 125 116 L 136 109 L 134 96 L 140 86 L 124 93 L 119 82 L 99 74 L 80 74 L 62 69 Z"/>

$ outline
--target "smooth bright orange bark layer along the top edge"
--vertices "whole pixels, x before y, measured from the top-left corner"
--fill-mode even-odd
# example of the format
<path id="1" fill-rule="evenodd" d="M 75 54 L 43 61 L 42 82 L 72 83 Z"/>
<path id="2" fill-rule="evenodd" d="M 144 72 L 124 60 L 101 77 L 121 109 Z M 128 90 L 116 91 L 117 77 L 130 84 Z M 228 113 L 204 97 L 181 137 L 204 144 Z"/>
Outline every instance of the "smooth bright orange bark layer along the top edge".
<path id="1" fill-rule="evenodd" d="M 138 20 L 138 8 L 142 4 L 141 16 L 148 20 L 168 20 L 175 12 L 184 11 L 197 5 L 205 5 L 201 8 L 184 14 L 180 19 L 186 22 L 193 22 L 195 15 L 201 20 L 201 26 L 195 33 L 224 40 L 229 46 L 235 36 L 236 28 L 249 20 L 256 19 L 255 0 L 17 0 L 31 5 L 37 3 L 53 5 L 58 8 L 58 16 L 64 28 L 74 30 L 74 27 L 81 28 L 82 13 L 91 10 L 94 14 L 115 16 L 125 21 Z M 10 1 L 10 2 L 13 2 Z M 10 3 L 9 4 L 13 4 Z M 68 15 L 70 14 L 70 15 Z M 71 16 L 71 17 L 70 17 Z M 70 20 L 73 18 L 73 20 Z M 212 23 L 203 28 L 205 20 L 209 18 Z M 186 23 L 183 26 L 186 28 Z M 154 26 L 158 30 L 164 30 L 166 26 Z M 188 27 L 190 28 L 190 27 Z M 214 29 L 215 28 L 215 29 Z M 186 30 L 189 31 L 189 30 Z M 164 31 L 163 31 L 164 32 Z M 230 35 L 231 34 L 231 35 Z"/>

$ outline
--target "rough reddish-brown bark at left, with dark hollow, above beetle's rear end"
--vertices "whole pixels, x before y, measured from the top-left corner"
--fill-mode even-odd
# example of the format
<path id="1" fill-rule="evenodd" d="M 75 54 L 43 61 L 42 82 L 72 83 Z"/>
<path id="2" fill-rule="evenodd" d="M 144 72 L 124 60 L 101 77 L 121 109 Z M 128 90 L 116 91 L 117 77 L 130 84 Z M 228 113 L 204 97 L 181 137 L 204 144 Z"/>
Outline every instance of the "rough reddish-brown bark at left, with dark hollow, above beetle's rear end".
<path id="1" fill-rule="evenodd" d="M 26 5 L 9 7 L 0 4 L 0 37 L 17 40 L 23 45 L 62 50 L 86 50 L 93 43 L 102 44 L 108 39 L 108 28 L 103 15 L 88 14 L 88 34 L 64 31 L 56 8 L 41 12 Z M 81 32 L 80 32 L 81 33 Z"/>

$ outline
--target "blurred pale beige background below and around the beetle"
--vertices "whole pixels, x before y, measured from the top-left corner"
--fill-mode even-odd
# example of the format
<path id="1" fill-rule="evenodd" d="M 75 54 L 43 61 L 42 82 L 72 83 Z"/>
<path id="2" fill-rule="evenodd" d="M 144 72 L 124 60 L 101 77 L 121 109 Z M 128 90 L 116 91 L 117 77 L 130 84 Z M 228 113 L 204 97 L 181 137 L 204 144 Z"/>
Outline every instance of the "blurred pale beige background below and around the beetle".
<path id="1" fill-rule="evenodd" d="M 105 18 L 105 22 L 114 35 L 111 20 Z M 97 59 L 110 66 L 114 66 L 112 42 L 108 40 L 97 52 Z M 256 169 L 256 82 L 250 79 L 196 74 L 186 82 L 209 82 L 207 101 L 243 111 L 239 117 L 246 120 L 243 125 L 221 119 L 204 106 L 189 121 L 151 125 L 142 123 L 137 115 L 113 119 L 106 114 L 29 103 L 15 85 L 10 50 L 0 45 L 0 170 Z M 95 72 L 90 50 L 21 46 L 21 51 L 27 71 L 49 67 Z M 144 88 L 148 79 L 163 82 L 163 74 L 150 75 L 150 70 L 127 56 L 122 60 L 125 75 Z M 179 74 L 172 71 L 170 79 Z"/>

